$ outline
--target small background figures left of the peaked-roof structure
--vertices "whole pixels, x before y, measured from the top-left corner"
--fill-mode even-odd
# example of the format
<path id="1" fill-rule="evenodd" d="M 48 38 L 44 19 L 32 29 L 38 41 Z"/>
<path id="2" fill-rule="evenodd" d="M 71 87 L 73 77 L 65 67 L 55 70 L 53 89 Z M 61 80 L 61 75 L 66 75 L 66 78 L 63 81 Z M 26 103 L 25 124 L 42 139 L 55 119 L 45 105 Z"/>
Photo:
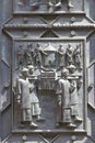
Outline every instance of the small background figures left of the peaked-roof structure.
<path id="1" fill-rule="evenodd" d="M 33 44 L 27 44 L 24 48 L 23 45 L 19 45 L 17 48 L 17 68 L 27 67 L 28 65 L 40 66 L 41 54 L 46 53 L 41 50 L 41 46 L 37 43 L 36 48 Z"/>

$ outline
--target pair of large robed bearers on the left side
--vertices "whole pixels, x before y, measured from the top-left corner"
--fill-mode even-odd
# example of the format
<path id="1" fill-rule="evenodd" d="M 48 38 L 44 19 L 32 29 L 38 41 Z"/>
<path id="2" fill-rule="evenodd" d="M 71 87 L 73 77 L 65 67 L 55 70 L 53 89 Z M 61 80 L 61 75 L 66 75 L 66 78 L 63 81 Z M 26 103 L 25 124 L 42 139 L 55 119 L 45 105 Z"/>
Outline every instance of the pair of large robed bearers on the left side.
<path id="1" fill-rule="evenodd" d="M 16 99 L 19 108 L 19 125 L 29 125 L 37 128 L 37 124 L 33 122 L 35 117 L 37 121 L 44 121 L 40 117 L 39 99 L 37 97 L 36 84 L 32 75 L 34 67 L 21 69 L 21 77 L 16 80 Z"/>

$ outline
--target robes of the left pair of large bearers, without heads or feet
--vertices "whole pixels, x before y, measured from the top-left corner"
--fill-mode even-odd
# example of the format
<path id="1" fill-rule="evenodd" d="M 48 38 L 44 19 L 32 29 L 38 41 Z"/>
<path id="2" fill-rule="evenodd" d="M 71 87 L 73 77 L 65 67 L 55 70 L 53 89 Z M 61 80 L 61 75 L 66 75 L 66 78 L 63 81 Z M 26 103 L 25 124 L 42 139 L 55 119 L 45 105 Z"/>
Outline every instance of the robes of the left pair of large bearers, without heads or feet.
<path id="1" fill-rule="evenodd" d="M 21 100 L 21 122 L 32 121 L 33 116 L 40 114 L 39 101 L 34 84 L 28 78 L 17 79 L 17 97 Z"/>

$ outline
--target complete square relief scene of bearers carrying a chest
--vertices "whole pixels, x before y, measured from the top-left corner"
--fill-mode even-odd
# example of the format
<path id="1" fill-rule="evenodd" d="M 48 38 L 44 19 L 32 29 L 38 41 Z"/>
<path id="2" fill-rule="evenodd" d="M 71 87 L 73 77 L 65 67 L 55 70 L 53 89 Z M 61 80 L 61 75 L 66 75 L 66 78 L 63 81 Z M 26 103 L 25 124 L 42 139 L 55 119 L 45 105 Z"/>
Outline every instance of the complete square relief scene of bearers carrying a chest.
<path id="1" fill-rule="evenodd" d="M 82 41 L 15 42 L 13 130 L 83 131 Z"/>

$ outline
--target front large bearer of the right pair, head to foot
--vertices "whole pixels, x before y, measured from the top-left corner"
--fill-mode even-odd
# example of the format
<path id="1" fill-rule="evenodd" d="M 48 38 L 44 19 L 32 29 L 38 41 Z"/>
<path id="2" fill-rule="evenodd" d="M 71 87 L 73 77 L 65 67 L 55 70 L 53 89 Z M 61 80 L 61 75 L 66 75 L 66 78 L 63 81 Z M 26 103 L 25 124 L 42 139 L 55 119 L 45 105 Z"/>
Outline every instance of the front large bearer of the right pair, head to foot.
<path id="1" fill-rule="evenodd" d="M 68 128 L 75 128 L 76 125 L 71 120 L 70 82 L 68 76 L 69 70 L 64 68 L 57 84 L 57 127 L 62 124 Z"/>

